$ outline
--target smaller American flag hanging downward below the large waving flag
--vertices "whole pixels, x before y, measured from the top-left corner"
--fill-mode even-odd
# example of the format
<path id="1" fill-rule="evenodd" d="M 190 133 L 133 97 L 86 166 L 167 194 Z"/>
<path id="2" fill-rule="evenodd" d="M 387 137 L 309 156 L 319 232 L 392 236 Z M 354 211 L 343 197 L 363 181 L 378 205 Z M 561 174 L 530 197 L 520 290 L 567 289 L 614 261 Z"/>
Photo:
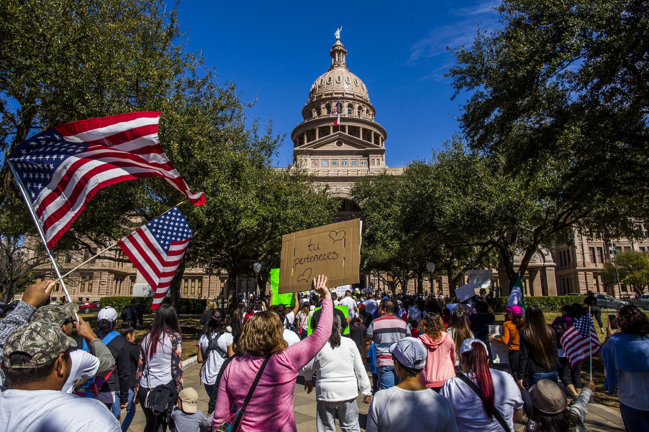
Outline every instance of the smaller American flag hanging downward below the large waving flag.
<path id="1" fill-rule="evenodd" d="M 117 242 L 155 290 L 151 310 L 160 307 L 192 234 L 185 216 L 173 207 Z"/>

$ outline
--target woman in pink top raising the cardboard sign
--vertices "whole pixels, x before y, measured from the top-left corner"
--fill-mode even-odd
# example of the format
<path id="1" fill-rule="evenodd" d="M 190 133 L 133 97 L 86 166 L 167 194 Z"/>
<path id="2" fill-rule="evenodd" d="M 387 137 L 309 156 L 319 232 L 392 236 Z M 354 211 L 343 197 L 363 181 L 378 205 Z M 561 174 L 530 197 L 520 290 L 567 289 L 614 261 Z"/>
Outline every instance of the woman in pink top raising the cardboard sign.
<path id="1" fill-rule="evenodd" d="M 268 364 L 241 420 L 241 432 L 295 432 L 293 391 L 298 372 L 317 354 L 331 335 L 334 304 L 326 288 L 326 277 L 313 278 L 313 289 L 323 297 L 317 329 L 288 347 L 284 324 L 275 312 L 255 313 L 243 325 L 238 348 L 243 356 L 230 361 L 219 383 L 213 429 L 216 430 L 243 405 L 252 381 L 266 356 Z M 288 347 L 288 348 L 287 348 Z M 233 406 L 234 405 L 234 406 Z"/>

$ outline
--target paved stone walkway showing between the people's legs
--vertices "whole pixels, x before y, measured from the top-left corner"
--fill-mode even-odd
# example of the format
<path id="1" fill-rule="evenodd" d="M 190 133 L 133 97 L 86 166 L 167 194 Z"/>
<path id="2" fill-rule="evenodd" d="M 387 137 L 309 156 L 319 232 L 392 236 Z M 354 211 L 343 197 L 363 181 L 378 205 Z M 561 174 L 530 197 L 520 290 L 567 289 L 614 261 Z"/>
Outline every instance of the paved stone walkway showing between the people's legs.
<path id="1" fill-rule="evenodd" d="M 201 378 L 199 377 L 200 366 L 201 365 L 193 365 L 185 369 L 184 385 L 185 387 L 193 387 L 196 389 L 199 394 L 198 408 L 204 414 L 207 414 L 209 398 L 207 397 L 205 389 L 201 384 Z M 304 385 L 302 384 L 303 381 L 300 380 L 300 378 L 298 378 L 298 380 L 298 383 L 295 384 L 295 401 L 293 402 L 297 431 L 315 432 L 317 430 L 317 427 L 315 426 L 315 390 L 312 391 L 311 394 L 306 394 L 306 391 L 304 391 Z M 360 413 L 359 420 L 361 429 L 365 430 L 367 409 L 369 408 L 369 405 L 363 404 L 363 400 L 360 397 L 356 399 L 356 402 L 358 403 L 358 411 Z M 124 415 L 125 411 L 122 411 L 122 414 Z M 144 423 L 144 415 L 138 406 L 138 411 L 129 427 L 129 431 L 142 432 L 144 430 Z M 522 431 L 525 427 L 522 424 L 517 424 L 515 426 L 516 431 Z M 624 424 L 622 423 L 619 411 L 605 407 L 604 405 L 588 405 L 588 415 L 585 419 L 585 426 L 589 432 L 624 432 Z M 336 431 L 340 430 L 341 429 L 336 425 Z"/>

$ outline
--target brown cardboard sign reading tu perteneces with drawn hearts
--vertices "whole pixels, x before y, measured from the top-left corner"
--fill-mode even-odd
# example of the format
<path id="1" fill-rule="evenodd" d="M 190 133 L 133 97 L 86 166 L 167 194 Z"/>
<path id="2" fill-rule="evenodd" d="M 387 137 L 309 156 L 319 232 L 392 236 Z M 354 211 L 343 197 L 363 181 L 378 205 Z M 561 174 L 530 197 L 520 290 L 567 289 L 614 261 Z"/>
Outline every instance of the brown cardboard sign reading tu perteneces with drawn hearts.
<path id="1" fill-rule="evenodd" d="M 278 292 L 310 290 L 317 275 L 326 275 L 328 286 L 358 284 L 360 262 L 360 219 L 286 234 Z"/>

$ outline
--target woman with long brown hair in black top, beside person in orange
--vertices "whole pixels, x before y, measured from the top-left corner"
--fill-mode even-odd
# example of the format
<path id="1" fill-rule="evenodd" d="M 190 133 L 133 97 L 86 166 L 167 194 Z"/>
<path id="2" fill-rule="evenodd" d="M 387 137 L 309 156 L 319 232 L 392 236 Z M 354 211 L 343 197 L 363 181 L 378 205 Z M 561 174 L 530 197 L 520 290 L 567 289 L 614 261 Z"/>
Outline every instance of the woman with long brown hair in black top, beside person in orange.
<path id="1" fill-rule="evenodd" d="M 554 330 L 545 321 L 539 306 L 525 311 L 525 328 L 520 333 L 518 383 L 521 390 L 539 380 L 559 383 L 559 358 Z M 525 384 L 524 384 L 525 383 Z"/>

